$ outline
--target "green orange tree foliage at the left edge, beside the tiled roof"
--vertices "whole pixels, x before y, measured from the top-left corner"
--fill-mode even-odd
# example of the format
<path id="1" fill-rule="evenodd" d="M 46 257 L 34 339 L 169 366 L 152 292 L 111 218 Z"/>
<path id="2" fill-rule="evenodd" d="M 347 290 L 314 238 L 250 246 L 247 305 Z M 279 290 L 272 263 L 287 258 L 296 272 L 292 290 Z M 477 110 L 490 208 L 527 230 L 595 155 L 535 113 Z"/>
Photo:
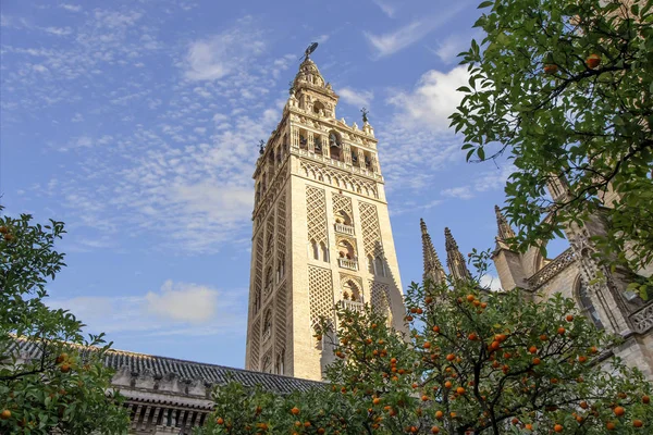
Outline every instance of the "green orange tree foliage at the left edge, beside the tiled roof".
<path id="1" fill-rule="evenodd" d="M 0 209 L 1 210 L 1 209 Z M 0 433 L 126 433 L 122 398 L 101 358 L 102 335 L 85 339 L 73 314 L 45 303 L 65 266 L 54 250 L 61 222 L 0 217 Z M 85 351 L 89 346 L 96 351 Z M 28 349 L 22 352 L 21 349 Z M 96 432 L 97 431 L 97 432 Z"/>

